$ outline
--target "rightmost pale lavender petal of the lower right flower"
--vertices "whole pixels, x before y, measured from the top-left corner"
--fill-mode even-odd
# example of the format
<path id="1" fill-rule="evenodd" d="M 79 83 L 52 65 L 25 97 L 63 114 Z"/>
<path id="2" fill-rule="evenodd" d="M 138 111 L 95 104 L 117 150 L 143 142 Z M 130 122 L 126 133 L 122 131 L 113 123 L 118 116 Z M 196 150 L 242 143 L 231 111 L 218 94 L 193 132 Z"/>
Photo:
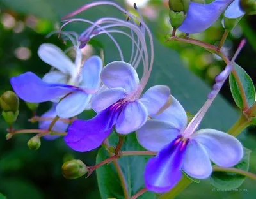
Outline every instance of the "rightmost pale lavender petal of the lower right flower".
<path id="1" fill-rule="evenodd" d="M 234 136 L 214 129 L 202 129 L 194 136 L 218 166 L 231 167 L 243 158 L 243 145 Z"/>

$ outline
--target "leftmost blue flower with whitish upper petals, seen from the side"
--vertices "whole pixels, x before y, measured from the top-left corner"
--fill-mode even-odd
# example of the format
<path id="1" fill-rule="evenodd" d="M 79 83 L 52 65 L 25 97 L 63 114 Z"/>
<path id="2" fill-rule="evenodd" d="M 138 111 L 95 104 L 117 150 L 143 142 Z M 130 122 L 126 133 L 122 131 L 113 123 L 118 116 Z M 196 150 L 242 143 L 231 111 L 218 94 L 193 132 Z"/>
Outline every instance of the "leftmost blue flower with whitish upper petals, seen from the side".
<path id="1" fill-rule="evenodd" d="M 59 71 L 47 73 L 43 80 L 31 72 L 13 77 L 10 80 L 13 90 L 21 99 L 32 103 L 60 101 L 56 107 L 60 117 L 80 114 L 88 107 L 92 95 L 99 90 L 102 60 L 93 56 L 82 65 L 81 50 L 78 47 L 76 50 L 77 59 L 72 63 L 60 48 L 42 45 L 38 55 Z"/>

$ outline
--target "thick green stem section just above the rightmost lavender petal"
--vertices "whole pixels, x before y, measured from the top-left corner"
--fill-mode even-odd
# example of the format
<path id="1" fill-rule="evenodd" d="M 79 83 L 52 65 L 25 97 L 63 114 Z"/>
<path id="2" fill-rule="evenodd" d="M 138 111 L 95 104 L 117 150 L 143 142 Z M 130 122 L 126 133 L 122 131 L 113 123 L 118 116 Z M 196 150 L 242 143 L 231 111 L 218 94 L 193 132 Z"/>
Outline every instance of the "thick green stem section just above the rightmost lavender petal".
<path id="1" fill-rule="evenodd" d="M 228 134 L 238 136 L 246 127 L 250 125 L 250 120 L 243 113 L 240 115 L 236 123 L 228 130 Z"/>

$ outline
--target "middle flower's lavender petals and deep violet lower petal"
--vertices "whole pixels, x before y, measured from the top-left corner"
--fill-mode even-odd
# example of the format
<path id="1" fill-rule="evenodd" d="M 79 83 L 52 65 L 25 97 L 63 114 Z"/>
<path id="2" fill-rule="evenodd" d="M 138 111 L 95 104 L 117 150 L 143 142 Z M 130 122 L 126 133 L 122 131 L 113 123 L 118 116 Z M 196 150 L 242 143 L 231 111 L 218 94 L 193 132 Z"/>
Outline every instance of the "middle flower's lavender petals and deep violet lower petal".
<path id="1" fill-rule="evenodd" d="M 88 121 L 76 120 L 65 136 L 67 144 L 76 151 L 99 147 L 115 126 L 116 132 L 126 135 L 141 128 L 149 115 L 156 115 L 170 97 L 170 89 L 156 85 L 140 98 L 141 87 L 136 70 L 123 61 L 114 61 L 101 74 L 108 87 L 92 98 L 97 116 Z"/>

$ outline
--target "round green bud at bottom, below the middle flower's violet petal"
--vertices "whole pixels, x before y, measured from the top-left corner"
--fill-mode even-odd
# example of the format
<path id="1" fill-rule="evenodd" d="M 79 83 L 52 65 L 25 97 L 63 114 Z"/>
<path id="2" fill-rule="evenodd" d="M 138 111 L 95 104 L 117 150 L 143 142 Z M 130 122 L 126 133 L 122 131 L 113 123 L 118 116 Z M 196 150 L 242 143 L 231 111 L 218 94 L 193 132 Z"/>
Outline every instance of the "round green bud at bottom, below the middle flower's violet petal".
<path id="1" fill-rule="evenodd" d="M 72 159 L 62 165 L 62 175 L 67 179 L 77 179 L 87 172 L 87 166 L 80 159 Z"/>

